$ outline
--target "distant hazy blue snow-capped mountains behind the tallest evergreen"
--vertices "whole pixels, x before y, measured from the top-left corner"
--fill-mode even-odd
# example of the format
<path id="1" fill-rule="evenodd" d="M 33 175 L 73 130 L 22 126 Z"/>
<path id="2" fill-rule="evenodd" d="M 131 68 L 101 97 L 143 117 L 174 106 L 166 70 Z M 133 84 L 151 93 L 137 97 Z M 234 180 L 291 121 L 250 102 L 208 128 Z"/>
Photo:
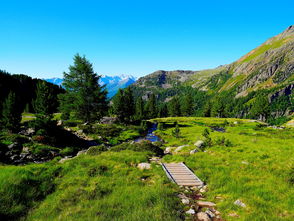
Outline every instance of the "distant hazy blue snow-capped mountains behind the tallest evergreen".
<path id="1" fill-rule="evenodd" d="M 44 79 L 44 80 L 59 86 L 61 86 L 63 82 L 62 78 L 50 78 L 50 79 Z M 101 85 L 106 85 L 106 88 L 108 91 L 108 97 L 111 98 L 117 93 L 117 91 L 120 88 L 126 88 L 129 85 L 136 82 L 136 80 L 137 79 L 132 75 L 118 75 L 118 76 L 102 75 L 99 83 Z"/>

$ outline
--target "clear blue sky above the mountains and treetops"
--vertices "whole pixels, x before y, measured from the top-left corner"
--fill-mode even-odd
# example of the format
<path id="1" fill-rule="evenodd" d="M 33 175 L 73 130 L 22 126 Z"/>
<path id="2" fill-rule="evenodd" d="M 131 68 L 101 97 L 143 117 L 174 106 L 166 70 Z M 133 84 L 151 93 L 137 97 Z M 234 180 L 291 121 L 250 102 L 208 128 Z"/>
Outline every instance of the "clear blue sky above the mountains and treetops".
<path id="1" fill-rule="evenodd" d="M 0 1 L 0 69 L 62 77 L 80 53 L 99 74 L 228 64 L 294 24 L 294 1 Z"/>

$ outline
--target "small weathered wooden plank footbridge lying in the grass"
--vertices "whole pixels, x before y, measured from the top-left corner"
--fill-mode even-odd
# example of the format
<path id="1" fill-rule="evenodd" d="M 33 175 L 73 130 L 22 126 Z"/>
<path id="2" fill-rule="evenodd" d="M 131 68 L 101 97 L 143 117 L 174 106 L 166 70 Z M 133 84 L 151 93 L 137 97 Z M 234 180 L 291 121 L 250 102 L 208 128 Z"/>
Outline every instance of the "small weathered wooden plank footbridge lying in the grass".
<path id="1" fill-rule="evenodd" d="M 162 163 L 170 180 L 179 186 L 203 186 L 203 182 L 184 163 Z"/>

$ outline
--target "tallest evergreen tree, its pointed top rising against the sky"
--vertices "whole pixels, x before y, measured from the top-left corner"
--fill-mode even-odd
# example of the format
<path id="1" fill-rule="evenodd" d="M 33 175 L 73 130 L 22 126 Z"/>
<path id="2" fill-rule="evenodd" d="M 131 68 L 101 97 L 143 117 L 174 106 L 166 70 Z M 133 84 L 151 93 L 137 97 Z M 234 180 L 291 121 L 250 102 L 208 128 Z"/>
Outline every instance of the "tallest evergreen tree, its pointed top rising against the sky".
<path id="1" fill-rule="evenodd" d="M 61 111 L 65 116 L 73 112 L 76 118 L 84 122 L 96 121 L 104 116 L 107 111 L 107 91 L 99 85 L 100 77 L 85 57 L 75 55 L 69 72 L 64 72 L 66 93 L 60 96 Z"/>

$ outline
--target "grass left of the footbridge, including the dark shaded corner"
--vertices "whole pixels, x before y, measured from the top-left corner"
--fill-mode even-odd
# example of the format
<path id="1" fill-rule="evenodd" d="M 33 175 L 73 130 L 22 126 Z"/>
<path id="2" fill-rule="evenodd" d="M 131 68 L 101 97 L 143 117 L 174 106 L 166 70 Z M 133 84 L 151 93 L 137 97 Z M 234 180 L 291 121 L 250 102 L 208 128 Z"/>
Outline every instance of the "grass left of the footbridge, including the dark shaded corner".
<path id="1" fill-rule="evenodd" d="M 65 163 L 0 167 L 0 217 L 26 220 L 181 220 L 178 187 L 148 152 L 95 151 Z M 28 212 L 28 214 L 27 214 Z"/>

